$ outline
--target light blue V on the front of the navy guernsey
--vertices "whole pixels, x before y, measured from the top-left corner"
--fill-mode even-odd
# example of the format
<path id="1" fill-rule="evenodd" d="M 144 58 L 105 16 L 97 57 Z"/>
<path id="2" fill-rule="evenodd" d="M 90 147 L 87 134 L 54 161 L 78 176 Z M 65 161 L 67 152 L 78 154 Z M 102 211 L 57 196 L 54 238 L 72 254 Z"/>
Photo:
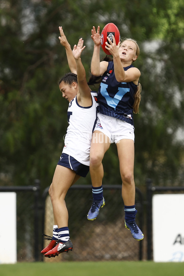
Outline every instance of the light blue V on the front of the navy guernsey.
<path id="1" fill-rule="evenodd" d="M 107 87 L 108 85 L 105 83 L 101 83 L 101 90 L 100 93 L 102 94 L 102 96 L 106 99 L 107 104 L 111 107 L 113 107 L 114 109 L 116 109 L 118 103 L 121 101 L 121 99 L 123 98 L 123 96 L 130 91 L 129 88 L 125 88 L 125 87 L 118 87 L 118 92 L 115 94 L 114 98 L 111 98 L 107 92 Z"/>

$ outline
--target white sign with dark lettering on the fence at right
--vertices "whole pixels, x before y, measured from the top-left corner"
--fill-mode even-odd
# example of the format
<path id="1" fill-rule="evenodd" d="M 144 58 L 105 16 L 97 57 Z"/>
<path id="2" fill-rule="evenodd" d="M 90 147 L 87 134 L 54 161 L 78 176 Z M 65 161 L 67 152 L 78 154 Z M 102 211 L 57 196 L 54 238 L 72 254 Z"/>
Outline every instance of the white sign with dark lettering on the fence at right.
<path id="1" fill-rule="evenodd" d="M 152 197 L 153 260 L 184 262 L 184 194 Z"/>

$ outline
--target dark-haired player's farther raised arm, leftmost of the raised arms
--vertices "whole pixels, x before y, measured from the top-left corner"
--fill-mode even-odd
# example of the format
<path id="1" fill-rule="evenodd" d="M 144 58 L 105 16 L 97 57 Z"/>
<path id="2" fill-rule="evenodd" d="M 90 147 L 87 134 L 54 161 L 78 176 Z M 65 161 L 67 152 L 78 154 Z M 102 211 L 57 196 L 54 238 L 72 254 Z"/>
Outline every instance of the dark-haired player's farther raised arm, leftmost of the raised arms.
<path id="1" fill-rule="evenodd" d="M 70 44 L 67 41 L 67 38 L 63 32 L 62 27 L 59 27 L 59 32 L 60 32 L 59 40 L 60 40 L 61 45 L 63 45 L 66 50 L 67 60 L 68 60 L 68 65 L 69 65 L 70 71 L 74 74 L 77 74 L 75 58 L 72 54 Z"/>

